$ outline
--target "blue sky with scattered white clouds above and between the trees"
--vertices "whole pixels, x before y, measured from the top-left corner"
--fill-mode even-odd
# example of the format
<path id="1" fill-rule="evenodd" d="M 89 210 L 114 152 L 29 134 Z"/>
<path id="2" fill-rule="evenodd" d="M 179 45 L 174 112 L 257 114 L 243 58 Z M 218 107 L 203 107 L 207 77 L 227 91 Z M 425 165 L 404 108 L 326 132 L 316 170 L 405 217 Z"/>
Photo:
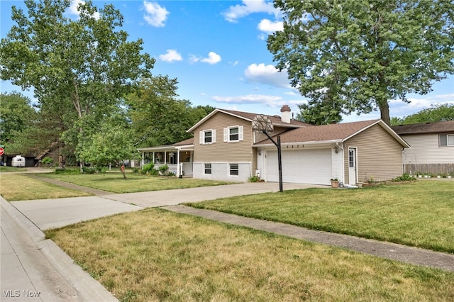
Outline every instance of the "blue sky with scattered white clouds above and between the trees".
<path id="1" fill-rule="evenodd" d="M 77 0 L 79 1 L 79 0 Z M 75 4 L 76 2 L 74 2 Z M 270 115 L 280 114 L 284 104 L 298 113 L 306 102 L 292 89 L 287 74 L 277 72 L 266 38 L 282 23 L 270 1 L 94 1 L 98 7 L 114 4 L 124 17 L 123 30 L 131 40 L 142 38 L 144 51 L 155 57 L 153 74 L 178 79 L 179 99 L 194 106 L 211 105 Z M 24 8 L 23 1 L 0 1 L 1 38 L 13 25 L 11 6 Z M 67 16 L 77 18 L 77 11 Z M 1 92 L 21 91 L 1 81 Z M 454 103 L 454 77 L 433 85 L 430 94 L 408 96 L 411 104 L 390 100 L 390 115 L 403 117 Z M 33 93 L 23 91 L 33 99 Z M 344 116 L 343 121 L 380 118 L 380 112 Z"/>

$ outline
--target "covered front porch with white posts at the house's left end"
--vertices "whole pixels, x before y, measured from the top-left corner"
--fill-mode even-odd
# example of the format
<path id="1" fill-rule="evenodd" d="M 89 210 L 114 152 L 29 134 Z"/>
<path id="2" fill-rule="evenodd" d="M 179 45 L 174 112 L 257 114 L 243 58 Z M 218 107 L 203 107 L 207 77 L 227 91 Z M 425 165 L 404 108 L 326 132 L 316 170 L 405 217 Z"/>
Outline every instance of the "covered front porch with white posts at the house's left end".
<path id="1" fill-rule="evenodd" d="M 192 175 L 192 159 L 194 158 L 194 138 L 177 142 L 173 145 L 139 148 L 142 152 L 141 165 L 153 162 L 155 168 L 167 164 L 170 172 L 175 175 Z"/>

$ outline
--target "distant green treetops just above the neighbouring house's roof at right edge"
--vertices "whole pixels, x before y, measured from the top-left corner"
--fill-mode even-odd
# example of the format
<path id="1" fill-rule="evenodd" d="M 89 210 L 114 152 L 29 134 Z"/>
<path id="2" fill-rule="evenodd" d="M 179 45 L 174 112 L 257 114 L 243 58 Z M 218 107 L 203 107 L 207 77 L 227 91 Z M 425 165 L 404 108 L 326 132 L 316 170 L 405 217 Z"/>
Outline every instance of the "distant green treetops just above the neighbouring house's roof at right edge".
<path id="1" fill-rule="evenodd" d="M 391 125 L 454 121 L 454 104 L 436 104 L 404 118 L 391 118 Z"/>

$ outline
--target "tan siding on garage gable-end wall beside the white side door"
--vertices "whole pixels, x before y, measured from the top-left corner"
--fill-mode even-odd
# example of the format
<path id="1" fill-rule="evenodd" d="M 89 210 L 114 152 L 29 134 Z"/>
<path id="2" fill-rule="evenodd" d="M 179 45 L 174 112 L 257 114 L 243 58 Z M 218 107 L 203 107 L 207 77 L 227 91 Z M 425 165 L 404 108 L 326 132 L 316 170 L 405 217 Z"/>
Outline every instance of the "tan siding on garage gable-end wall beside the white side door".
<path id="1" fill-rule="evenodd" d="M 348 147 L 357 147 L 358 181 L 376 181 L 402 175 L 402 145 L 380 125 L 373 125 L 344 142 L 344 173 L 348 182 Z"/>

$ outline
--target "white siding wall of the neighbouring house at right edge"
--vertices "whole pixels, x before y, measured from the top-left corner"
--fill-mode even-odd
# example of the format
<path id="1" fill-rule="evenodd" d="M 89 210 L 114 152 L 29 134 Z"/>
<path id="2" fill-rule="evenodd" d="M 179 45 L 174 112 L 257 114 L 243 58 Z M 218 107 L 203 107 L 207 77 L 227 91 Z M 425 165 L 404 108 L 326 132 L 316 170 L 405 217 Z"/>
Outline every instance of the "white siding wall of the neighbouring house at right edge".
<path id="1" fill-rule="evenodd" d="M 440 147 L 438 134 L 401 136 L 411 146 L 402 154 L 404 164 L 454 164 L 454 146 Z"/>

